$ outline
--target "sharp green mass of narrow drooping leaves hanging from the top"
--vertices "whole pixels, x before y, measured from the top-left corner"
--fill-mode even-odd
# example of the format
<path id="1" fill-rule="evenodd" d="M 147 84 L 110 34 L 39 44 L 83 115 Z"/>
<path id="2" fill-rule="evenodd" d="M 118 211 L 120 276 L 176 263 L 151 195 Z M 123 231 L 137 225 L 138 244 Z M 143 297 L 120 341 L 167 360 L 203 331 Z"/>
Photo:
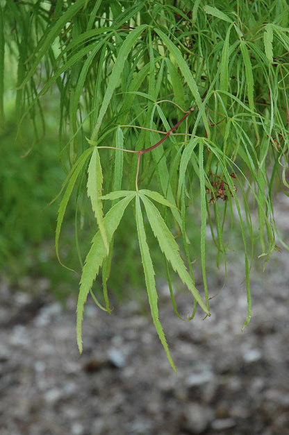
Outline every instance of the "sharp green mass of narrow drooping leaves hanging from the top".
<path id="1" fill-rule="evenodd" d="M 129 237 L 138 237 L 151 315 L 173 368 L 158 319 L 147 221 L 167 273 L 170 264 L 195 299 L 193 314 L 197 302 L 206 316 L 217 293 L 206 279 L 207 233 L 217 262 L 221 257 L 226 264 L 224 234 L 238 226 L 247 325 L 254 245 L 261 241 L 265 262 L 276 249 L 274 194 L 278 188 L 288 194 L 289 187 L 287 2 L 38 0 L 19 2 L 17 10 L 13 2 L 3 3 L 7 49 L 19 52 L 22 121 L 28 114 L 43 120 L 42 95 L 49 88 L 57 87 L 60 95 L 60 155 L 68 175 L 57 253 L 74 187 L 79 198 L 86 189 L 97 221 L 81 276 L 79 350 L 85 300 L 101 266 L 104 304 L 92 295 L 110 312 L 113 242 L 129 203 L 137 227 Z M 35 121 L 36 131 L 37 126 Z M 200 219 L 205 301 L 192 271 L 191 257 L 198 257 L 188 238 L 192 210 Z M 176 311 L 171 282 L 170 290 Z"/>

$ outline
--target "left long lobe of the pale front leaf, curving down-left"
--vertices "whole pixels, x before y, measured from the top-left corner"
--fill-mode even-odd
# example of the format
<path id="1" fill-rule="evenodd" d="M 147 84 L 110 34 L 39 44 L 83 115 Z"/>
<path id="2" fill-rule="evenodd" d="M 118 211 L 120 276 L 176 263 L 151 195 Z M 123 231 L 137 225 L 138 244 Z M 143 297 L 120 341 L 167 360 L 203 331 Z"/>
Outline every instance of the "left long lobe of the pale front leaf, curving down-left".
<path id="1" fill-rule="evenodd" d="M 135 196 L 135 192 L 129 192 L 129 194 L 115 204 L 104 217 L 104 226 L 106 228 L 108 244 L 110 244 L 110 241 L 113 239 L 113 234 L 115 233 L 115 230 L 122 219 L 124 210 L 133 199 L 133 196 Z M 76 335 L 80 353 L 83 350 L 81 333 L 84 304 L 92 287 L 92 283 L 99 273 L 99 268 L 102 266 L 106 257 L 108 257 L 106 246 L 104 245 L 104 240 L 98 231 L 92 239 L 92 246 L 85 259 L 85 264 L 83 266 L 83 272 L 81 275 L 79 298 L 77 300 Z"/>

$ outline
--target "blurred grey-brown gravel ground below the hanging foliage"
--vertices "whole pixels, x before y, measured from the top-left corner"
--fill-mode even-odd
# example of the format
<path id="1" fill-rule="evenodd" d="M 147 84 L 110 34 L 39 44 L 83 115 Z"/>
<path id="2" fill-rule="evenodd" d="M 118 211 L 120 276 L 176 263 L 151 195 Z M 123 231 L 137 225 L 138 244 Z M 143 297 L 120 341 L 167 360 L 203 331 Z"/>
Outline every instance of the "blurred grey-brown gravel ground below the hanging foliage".
<path id="1" fill-rule="evenodd" d="M 285 234 L 287 210 L 279 213 Z M 74 300 L 65 307 L 52 300 L 43 279 L 27 278 L 37 298 L 1 282 L 1 435 L 289 434 L 288 265 L 283 251 L 265 273 L 252 271 L 253 316 L 243 332 L 237 259 L 204 321 L 200 311 L 192 322 L 176 318 L 160 286 L 160 321 L 177 375 L 147 305 L 129 302 L 109 316 L 89 300 L 79 356 Z M 218 287 L 220 272 L 209 280 Z M 178 293 L 183 316 L 190 303 Z"/>

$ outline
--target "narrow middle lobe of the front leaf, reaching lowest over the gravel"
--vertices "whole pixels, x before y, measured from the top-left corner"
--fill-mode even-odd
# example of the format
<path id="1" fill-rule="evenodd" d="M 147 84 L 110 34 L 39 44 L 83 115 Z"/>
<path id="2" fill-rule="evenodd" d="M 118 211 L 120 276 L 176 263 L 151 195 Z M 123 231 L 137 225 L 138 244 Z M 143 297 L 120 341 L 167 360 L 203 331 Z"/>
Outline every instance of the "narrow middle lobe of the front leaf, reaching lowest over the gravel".
<path id="1" fill-rule="evenodd" d="M 140 207 L 140 195 L 135 196 L 135 219 L 136 225 L 138 229 L 138 241 L 140 244 L 140 254 L 142 256 L 142 266 L 144 268 L 145 273 L 145 283 L 147 286 L 147 295 L 149 296 L 149 306 L 151 307 L 151 317 L 153 318 L 154 325 L 156 327 L 156 331 L 158 332 L 158 336 L 160 338 L 161 343 L 163 344 L 163 348 L 165 349 L 165 353 L 167 354 L 167 359 L 170 361 L 170 365 L 176 372 L 176 367 L 174 365 L 174 361 L 170 355 L 170 350 L 167 346 L 167 341 L 165 339 L 165 334 L 163 332 L 163 327 L 160 324 L 160 320 L 158 318 L 158 293 L 156 292 L 156 281 L 154 279 L 154 266 L 151 261 L 151 255 L 149 253 L 149 246 L 147 245 L 147 237 L 145 234 L 145 226 L 142 219 L 142 210 Z"/>

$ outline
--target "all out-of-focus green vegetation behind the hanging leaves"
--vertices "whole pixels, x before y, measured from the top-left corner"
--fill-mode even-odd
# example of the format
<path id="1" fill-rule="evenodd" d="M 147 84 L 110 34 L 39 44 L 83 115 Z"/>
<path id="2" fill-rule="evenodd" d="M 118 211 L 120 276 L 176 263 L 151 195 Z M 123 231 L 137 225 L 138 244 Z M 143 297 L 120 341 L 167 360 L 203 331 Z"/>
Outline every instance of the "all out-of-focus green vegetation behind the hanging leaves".
<path id="1" fill-rule="evenodd" d="M 60 236 L 60 257 L 63 264 L 76 273 L 61 266 L 54 246 L 58 201 L 51 203 L 58 195 L 65 180 L 65 170 L 60 162 L 58 148 L 58 102 L 55 96 L 46 96 L 42 106 L 46 129 L 35 142 L 35 132 L 29 119 L 18 132 L 19 120 L 15 110 L 15 94 L 10 90 L 6 95 L 6 123 L 0 129 L 0 264 L 1 275 L 14 286 L 21 287 L 23 277 L 47 278 L 52 293 L 60 300 L 77 296 L 81 265 L 76 250 L 75 204 L 76 194 L 69 203 L 65 225 Z M 9 89 L 9 87 L 6 87 Z M 34 142 L 33 142 L 34 141 Z M 51 205 L 49 205 L 51 203 Z M 78 237 L 83 257 L 88 250 L 95 225 L 91 219 L 83 221 L 82 207 L 88 212 L 87 198 L 79 198 Z M 108 289 L 113 291 L 116 301 L 129 298 L 131 292 L 145 288 L 142 282 L 142 266 L 139 258 L 138 240 L 128 237 L 136 232 L 131 228 L 133 220 L 128 212 L 119 228 L 114 253 L 115 262 L 111 271 Z M 152 243 L 154 237 L 151 237 Z M 163 257 L 156 246 L 156 262 L 163 267 Z M 141 277 L 141 278 L 140 278 Z M 94 285 L 101 285 L 101 280 Z M 32 291 L 33 289 L 31 289 Z"/>

